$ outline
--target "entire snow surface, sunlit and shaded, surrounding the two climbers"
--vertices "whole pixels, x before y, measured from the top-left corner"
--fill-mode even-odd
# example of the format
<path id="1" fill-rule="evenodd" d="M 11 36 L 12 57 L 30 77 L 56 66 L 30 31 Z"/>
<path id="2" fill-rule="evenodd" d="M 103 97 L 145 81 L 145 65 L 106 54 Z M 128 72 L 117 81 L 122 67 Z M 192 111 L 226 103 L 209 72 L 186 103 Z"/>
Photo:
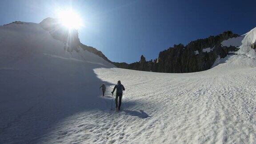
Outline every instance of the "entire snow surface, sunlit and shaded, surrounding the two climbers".
<path id="1" fill-rule="evenodd" d="M 207 71 L 170 74 L 65 52 L 39 24 L 2 26 L 0 143 L 256 143 L 253 33 L 243 54 Z M 126 88 L 120 112 L 110 110 L 117 80 Z"/>

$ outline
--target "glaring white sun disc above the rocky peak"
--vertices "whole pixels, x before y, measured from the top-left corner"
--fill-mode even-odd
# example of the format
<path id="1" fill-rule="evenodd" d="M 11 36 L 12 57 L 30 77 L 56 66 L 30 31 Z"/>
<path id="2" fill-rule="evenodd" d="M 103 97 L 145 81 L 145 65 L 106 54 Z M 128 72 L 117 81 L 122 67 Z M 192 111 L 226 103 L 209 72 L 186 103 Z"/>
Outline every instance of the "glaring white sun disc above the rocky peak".
<path id="1" fill-rule="evenodd" d="M 82 20 L 80 16 L 73 12 L 72 10 L 61 10 L 57 12 L 58 18 L 60 19 L 60 23 L 63 24 L 67 28 L 75 28 L 78 29 L 82 26 Z"/>

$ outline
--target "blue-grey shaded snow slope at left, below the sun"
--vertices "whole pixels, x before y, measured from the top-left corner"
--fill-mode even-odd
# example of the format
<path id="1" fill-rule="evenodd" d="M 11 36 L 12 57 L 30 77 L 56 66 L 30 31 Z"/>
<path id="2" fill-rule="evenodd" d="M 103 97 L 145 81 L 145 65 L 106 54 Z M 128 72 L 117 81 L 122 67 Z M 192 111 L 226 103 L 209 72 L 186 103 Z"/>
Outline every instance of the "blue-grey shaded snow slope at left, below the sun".
<path id="1" fill-rule="evenodd" d="M 0 26 L 0 143 L 34 143 L 57 122 L 95 109 L 102 81 L 93 69 L 114 67 L 82 49 L 64 51 L 40 24 Z"/>

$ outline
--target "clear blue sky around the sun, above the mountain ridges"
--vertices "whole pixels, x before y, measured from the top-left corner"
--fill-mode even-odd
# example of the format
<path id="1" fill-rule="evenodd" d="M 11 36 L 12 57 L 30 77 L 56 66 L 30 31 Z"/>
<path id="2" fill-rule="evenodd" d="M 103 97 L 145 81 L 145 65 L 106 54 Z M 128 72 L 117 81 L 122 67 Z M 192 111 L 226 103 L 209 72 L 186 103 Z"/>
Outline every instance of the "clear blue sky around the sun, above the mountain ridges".
<path id="1" fill-rule="evenodd" d="M 39 23 L 72 7 L 82 16 L 80 41 L 116 62 L 157 58 L 173 44 L 256 27 L 256 0 L 0 0 L 0 25 Z"/>

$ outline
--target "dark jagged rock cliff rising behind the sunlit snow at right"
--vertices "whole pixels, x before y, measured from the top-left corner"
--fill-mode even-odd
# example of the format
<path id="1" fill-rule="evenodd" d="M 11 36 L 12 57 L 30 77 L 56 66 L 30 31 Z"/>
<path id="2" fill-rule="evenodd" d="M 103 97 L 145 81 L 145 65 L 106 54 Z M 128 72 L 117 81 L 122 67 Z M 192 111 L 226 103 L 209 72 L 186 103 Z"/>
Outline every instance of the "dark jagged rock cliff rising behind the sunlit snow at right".
<path id="1" fill-rule="evenodd" d="M 210 69 L 215 60 L 228 55 L 228 52 L 237 51 L 234 46 L 222 46 L 223 40 L 228 40 L 238 35 L 231 31 L 223 32 L 218 36 L 209 36 L 206 39 L 199 39 L 190 42 L 188 45 L 174 45 L 159 53 L 156 60 L 146 61 L 141 56 L 140 62 L 132 64 L 113 63 L 118 68 L 127 68 L 140 71 L 152 72 L 199 72 Z"/>

